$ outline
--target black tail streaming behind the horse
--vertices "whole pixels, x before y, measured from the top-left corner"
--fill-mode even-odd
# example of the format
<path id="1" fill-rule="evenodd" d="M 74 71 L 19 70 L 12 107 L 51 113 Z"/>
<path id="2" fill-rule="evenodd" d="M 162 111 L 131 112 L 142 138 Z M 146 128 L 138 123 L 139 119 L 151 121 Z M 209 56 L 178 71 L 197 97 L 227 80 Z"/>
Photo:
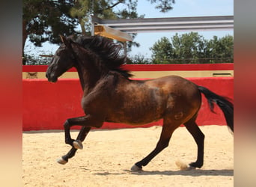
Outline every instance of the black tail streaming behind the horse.
<path id="1" fill-rule="evenodd" d="M 219 105 L 219 108 L 222 109 L 223 114 L 225 115 L 225 119 L 228 127 L 234 132 L 234 105 L 227 98 L 223 96 L 219 96 L 216 93 L 204 88 L 202 86 L 198 86 L 198 90 L 201 93 L 204 93 L 204 96 L 207 98 L 208 104 L 210 106 L 210 111 L 213 111 L 215 102 Z M 213 111 L 214 112 L 214 111 Z"/>

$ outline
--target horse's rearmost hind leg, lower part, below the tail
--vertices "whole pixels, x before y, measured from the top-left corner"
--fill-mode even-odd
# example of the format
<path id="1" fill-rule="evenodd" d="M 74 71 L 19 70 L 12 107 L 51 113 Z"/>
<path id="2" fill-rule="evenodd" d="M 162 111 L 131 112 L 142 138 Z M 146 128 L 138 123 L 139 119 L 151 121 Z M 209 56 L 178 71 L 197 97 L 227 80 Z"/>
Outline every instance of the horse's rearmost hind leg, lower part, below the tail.
<path id="1" fill-rule="evenodd" d="M 188 122 L 184 123 L 184 125 L 198 145 L 198 158 L 195 162 L 192 162 L 189 165 L 194 168 L 201 168 L 204 165 L 204 133 L 201 132 L 197 123 L 195 123 L 195 119 L 196 116 L 190 119 Z"/>

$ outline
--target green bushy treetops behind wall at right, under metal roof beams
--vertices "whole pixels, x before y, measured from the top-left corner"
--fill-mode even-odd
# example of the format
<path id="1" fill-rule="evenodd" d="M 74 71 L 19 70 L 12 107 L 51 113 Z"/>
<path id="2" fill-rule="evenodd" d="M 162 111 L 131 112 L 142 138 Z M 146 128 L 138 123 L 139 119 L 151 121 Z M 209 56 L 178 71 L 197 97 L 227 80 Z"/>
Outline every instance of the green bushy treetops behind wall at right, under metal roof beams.
<path id="1" fill-rule="evenodd" d="M 232 36 L 205 40 L 196 32 L 162 37 L 150 48 L 154 64 L 202 64 L 233 62 Z"/>

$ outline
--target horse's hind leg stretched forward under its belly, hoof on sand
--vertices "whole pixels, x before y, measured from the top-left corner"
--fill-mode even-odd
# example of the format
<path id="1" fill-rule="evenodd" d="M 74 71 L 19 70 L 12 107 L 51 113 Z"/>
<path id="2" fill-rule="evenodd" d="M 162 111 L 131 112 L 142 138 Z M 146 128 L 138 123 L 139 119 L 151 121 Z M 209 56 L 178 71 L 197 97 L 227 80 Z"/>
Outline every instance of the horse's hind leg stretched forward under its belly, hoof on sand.
<path id="1" fill-rule="evenodd" d="M 135 163 L 135 165 L 132 166 L 132 171 L 141 171 L 142 166 L 147 165 L 158 153 L 160 153 L 165 147 L 168 147 L 169 141 L 171 139 L 171 135 L 174 132 L 177 127 L 180 126 L 180 124 L 173 125 L 170 123 L 166 123 L 166 120 L 164 120 L 164 124 L 162 126 L 162 132 L 159 138 L 158 143 L 156 144 L 156 148 L 144 159 L 142 159 L 140 162 Z"/>

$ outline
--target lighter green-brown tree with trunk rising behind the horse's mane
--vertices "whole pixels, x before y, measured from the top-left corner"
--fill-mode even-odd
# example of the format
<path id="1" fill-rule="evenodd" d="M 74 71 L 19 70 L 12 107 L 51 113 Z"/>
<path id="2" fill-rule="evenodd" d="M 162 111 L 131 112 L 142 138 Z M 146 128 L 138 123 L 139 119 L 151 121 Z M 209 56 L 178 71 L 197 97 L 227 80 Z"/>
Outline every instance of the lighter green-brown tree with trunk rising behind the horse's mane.
<path id="1" fill-rule="evenodd" d="M 151 4 L 157 4 L 156 9 L 161 12 L 167 12 L 171 10 L 174 0 L 147 0 Z M 103 1 L 91 1 L 91 0 L 77 0 L 73 8 L 71 9 L 71 15 L 79 19 L 82 34 L 88 34 L 91 31 L 91 23 L 89 22 L 91 14 L 100 17 L 101 19 L 134 19 L 143 15 L 137 13 L 138 0 L 103 0 Z M 134 38 L 136 34 L 132 34 Z M 132 46 L 139 46 L 139 43 L 128 42 L 127 51 L 130 51 Z"/>

